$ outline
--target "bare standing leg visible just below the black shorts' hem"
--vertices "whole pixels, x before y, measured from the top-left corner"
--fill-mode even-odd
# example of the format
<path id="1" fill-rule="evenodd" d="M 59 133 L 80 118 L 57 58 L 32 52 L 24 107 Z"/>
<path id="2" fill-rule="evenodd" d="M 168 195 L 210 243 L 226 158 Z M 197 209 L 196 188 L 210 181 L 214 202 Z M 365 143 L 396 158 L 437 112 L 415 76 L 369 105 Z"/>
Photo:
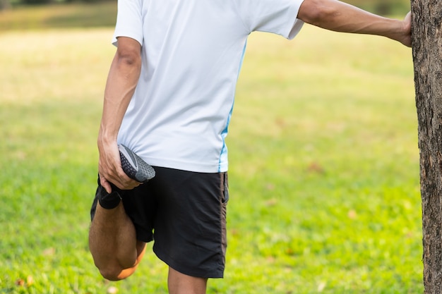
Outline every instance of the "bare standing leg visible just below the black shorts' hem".
<path id="1" fill-rule="evenodd" d="M 207 278 L 197 278 L 181 274 L 169 267 L 167 278 L 169 294 L 205 294 Z"/>

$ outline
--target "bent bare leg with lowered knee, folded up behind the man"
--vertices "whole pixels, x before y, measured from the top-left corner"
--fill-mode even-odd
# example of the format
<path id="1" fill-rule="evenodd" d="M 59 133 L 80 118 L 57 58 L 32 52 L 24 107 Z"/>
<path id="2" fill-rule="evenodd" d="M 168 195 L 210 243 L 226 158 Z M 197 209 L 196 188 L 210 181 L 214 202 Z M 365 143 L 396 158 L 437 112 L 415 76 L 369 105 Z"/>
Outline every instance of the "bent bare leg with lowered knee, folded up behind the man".
<path id="1" fill-rule="evenodd" d="M 122 202 L 114 209 L 97 204 L 89 231 L 89 248 L 104 278 L 127 278 L 136 270 L 145 252 L 145 243 L 136 240 L 135 228 Z"/>

